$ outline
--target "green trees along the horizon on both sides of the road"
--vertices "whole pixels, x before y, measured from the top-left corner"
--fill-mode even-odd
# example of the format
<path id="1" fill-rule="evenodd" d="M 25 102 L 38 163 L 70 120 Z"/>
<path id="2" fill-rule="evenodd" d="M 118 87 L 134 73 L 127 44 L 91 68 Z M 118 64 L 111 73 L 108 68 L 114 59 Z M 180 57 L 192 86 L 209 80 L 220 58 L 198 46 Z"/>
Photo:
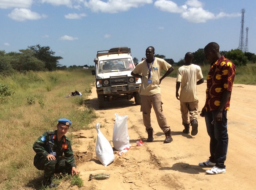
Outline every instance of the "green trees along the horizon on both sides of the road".
<path id="1" fill-rule="evenodd" d="M 19 52 L 6 53 L 4 50 L 0 50 L 0 74 L 10 75 L 15 71 L 55 71 L 67 69 L 66 66 L 59 64 L 59 60 L 63 59 L 60 56 L 54 56 L 55 52 L 51 50 L 49 46 L 40 46 L 39 44 L 34 46 L 28 46 L 27 49 L 21 49 Z M 193 63 L 197 65 L 209 64 L 205 60 L 204 49 L 198 49 L 193 52 Z M 239 49 L 232 49 L 230 51 L 221 51 L 220 54 L 234 62 L 237 66 L 246 65 L 249 61 L 256 62 L 256 55 L 250 52 L 242 52 Z M 155 57 L 159 57 L 167 61 L 171 65 L 181 66 L 184 65 L 184 58 L 178 62 L 174 62 L 171 58 L 166 58 L 164 55 L 155 54 Z M 139 60 L 134 57 L 133 61 L 138 64 Z M 83 66 L 69 66 L 69 68 L 77 68 Z M 93 68 L 94 66 L 84 65 L 84 67 Z"/>

